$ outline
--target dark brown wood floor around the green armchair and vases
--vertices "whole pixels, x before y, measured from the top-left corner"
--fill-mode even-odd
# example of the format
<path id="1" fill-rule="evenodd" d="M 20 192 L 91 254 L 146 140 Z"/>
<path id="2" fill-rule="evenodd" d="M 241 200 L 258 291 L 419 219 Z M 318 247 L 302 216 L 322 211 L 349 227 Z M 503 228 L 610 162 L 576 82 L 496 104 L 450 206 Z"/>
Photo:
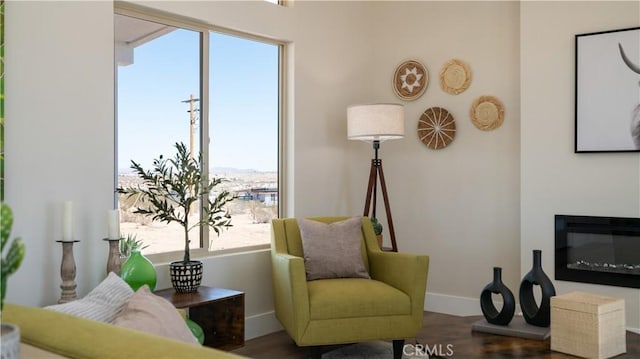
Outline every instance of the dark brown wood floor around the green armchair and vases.
<path id="1" fill-rule="evenodd" d="M 425 312 L 424 326 L 418 333 L 417 342 L 433 348 L 441 345 L 442 354 L 451 348 L 451 356 L 444 358 L 575 358 L 571 355 L 552 352 L 549 340 L 537 341 L 471 332 L 471 324 L 481 316 L 457 317 Z M 407 341 L 415 344 L 415 340 Z M 447 347 L 447 345 L 451 345 Z M 243 348 L 233 353 L 256 359 L 303 359 L 308 358 L 307 348 L 299 348 L 285 332 L 276 332 L 248 340 Z M 426 358 L 426 356 L 425 356 Z M 640 358 L 640 334 L 627 332 L 627 353 L 616 359 Z"/>

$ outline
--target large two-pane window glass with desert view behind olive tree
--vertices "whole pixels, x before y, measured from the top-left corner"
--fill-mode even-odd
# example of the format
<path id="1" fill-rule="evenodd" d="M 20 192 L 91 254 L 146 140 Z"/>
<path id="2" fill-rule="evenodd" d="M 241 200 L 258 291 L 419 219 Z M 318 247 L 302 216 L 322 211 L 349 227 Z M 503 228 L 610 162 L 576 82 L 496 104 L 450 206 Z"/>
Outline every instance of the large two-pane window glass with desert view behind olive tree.
<path id="1" fill-rule="evenodd" d="M 131 160 L 148 169 L 182 142 L 202 151 L 209 175 L 225 179 L 216 189 L 235 197 L 233 227 L 220 236 L 196 228 L 191 247 L 265 245 L 279 213 L 280 45 L 166 22 L 115 15 L 117 185 L 140 183 Z M 119 196 L 118 203 L 121 231 L 147 245 L 145 254 L 184 248 L 178 224 L 133 213 L 135 198 Z"/>

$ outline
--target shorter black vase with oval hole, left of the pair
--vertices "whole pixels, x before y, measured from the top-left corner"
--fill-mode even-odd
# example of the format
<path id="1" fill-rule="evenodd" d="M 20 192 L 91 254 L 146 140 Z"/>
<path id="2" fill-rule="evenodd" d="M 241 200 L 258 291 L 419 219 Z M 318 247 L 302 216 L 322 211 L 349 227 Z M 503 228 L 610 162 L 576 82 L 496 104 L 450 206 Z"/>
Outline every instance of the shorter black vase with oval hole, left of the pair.
<path id="1" fill-rule="evenodd" d="M 491 294 L 502 296 L 502 310 L 498 313 Z M 493 267 L 493 282 L 487 284 L 480 294 L 480 308 L 487 322 L 496 325 L 507 325 L 516 311 L 516 299 L 513 293 L 502 283 L 502 268 Z"/>

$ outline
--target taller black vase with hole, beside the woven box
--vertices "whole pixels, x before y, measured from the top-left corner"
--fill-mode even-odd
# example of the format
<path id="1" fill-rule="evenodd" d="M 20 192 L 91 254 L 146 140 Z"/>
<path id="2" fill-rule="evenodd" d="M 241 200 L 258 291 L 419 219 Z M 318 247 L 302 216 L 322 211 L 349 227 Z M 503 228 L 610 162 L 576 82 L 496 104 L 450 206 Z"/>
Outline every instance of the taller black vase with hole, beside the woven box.
<path id="1" fill-rule="evenodd" d="M 542 251 L 533 251 L 533 267 L 522 278 L 520 283 L 520 308 L 524 320 L 538 327 L 548 327 L 551 324 L 551 297 L 556 295 L 553 283 L 542 270 Z M 540 307 L 533 296 L 533 285 L 539 285 L 542 290 Z"/>

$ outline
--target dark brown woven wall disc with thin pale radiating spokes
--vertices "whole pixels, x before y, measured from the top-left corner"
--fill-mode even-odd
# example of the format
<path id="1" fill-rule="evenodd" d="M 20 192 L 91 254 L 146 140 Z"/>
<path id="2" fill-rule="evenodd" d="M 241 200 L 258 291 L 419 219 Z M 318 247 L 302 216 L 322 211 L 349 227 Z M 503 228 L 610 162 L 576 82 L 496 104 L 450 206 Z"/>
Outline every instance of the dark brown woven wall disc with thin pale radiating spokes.
<path id="1" fill-rule="evenodd" d="M 418 120 L 418 138 L 432 150 L 447 147 L 456 137 L 456 121 L 442 107 L 425 110 Z"/>

